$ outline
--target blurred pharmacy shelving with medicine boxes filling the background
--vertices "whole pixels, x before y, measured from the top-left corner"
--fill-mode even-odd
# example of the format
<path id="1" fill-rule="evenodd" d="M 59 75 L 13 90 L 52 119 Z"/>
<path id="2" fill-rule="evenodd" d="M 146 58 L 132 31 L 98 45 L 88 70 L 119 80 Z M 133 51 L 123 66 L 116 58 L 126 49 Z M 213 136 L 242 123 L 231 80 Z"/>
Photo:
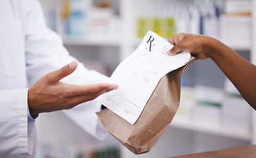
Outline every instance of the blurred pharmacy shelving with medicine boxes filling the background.
<path id="1" fill-rule="evenodd" d="M 148 30 L 169 39 L 179 32 L 219 39 L 248 61 L 253 50 L 255 0 L 40 0 L 46 24 L 69 53 L 110 76 Z M 255 31 L 255 28 L 254 28 Z M 61 113 L 36 120 L 42 158 L 173 157 L 255 144 L 255 111 L 212 60 L 184 72 L 181 104 L 153 149 L 134 155 L 112 136 L 99 141 Z M 52 120 L 53 115 L 58 119 Z"/>

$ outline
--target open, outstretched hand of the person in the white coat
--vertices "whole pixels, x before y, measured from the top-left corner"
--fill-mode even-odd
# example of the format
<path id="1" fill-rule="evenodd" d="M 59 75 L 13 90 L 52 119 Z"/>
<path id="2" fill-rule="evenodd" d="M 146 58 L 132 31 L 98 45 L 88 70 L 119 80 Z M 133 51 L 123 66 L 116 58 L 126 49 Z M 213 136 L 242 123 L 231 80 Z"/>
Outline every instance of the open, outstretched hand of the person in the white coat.
<path id="1" fill-rule="evenodd" d="M 77 68 L 77 62 L 73 61 L 59 70 L 46 74 L 28 89 L 28 107 L 31 116 L 38 113 L 71 109 L 80 103 L 90 101 L 105 92 L 118 88 L 115 84 L 79 86 L 60 82 L 75 68 Z"/>

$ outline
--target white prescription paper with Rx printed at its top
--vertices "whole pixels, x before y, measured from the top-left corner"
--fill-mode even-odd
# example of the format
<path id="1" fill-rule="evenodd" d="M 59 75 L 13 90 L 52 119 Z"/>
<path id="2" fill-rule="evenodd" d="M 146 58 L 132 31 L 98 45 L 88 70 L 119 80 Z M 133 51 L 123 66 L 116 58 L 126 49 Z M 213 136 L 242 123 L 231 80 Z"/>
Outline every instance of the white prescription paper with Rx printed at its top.
<path id="1" fill-rule="evenodd" d="M 114 70 L 110 79 L 118 90 L 97 99 L 108 109 L 134 124 L 140 117 L 159 80 L 168 72 L 185 65 L 189 53 L 167 55 L 173 45 L 148 31 L 139 47 Z"/>

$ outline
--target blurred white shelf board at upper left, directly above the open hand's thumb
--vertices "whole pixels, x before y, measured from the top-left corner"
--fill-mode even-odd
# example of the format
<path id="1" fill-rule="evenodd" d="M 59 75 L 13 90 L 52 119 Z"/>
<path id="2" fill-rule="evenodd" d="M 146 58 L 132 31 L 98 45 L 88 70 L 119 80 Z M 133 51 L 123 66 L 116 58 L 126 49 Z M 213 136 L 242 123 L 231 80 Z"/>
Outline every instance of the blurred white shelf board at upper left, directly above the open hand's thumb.
<path id="1" fill-rule="evenodd" d="M 94 36 L 86 38 L 63 37 L 64 45 L 85 45 L 85 46 L 120 46 L 120 38 L 107 36 Z"/>

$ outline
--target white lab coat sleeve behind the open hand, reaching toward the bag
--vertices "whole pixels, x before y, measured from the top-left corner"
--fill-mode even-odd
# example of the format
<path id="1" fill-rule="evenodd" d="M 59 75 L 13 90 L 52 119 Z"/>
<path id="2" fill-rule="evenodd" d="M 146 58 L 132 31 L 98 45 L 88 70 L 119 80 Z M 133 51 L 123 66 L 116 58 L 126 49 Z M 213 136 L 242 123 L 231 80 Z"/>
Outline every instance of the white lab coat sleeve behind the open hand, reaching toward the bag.
<path id="1" fill-rule="evenodd" d="M 34 84 L 47 72 L 77 59 L 69 55 L 60 36 L 46 27 L 40 4 L 31 0 L 27 6 L 29 11 L 26 20 L 26 67 L 30 84 Z M 96 84 L 107 79 L 106 76 L 94 70 L 87 70 L 82 63 L 78 63 L 77 70 L 62 81 L 68 84 Z M 64 113 L 89 134 L 102 139 L 107 135 L 107 131 L 95 114 L 100 108 L 101 104 L 90 101 Z"/>

